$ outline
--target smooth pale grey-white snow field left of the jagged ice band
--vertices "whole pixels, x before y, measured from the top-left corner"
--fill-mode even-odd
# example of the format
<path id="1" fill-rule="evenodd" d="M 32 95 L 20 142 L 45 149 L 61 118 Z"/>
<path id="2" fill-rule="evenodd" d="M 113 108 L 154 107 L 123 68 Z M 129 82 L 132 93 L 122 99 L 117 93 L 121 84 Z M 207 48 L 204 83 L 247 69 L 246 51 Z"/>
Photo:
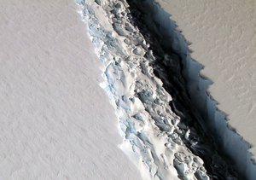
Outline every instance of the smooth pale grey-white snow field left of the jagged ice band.
<path id="1" fill-rule="evenodd" d="M 76 3 L 0 8 L 0 179 L 140 179 Z"/>

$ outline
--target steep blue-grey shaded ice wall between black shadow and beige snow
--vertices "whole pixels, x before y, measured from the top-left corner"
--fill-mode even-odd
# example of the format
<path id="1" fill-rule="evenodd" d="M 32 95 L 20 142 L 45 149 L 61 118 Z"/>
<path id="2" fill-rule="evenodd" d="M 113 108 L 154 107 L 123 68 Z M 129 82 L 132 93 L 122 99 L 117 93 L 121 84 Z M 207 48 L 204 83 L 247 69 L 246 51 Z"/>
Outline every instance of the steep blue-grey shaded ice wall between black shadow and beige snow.
<path id="1" fill-rule="evenodd" d="M 190 56 L 189 42 L 183 37 L 177 29 L 177 25 L 170 19 L 160 6 L 150 1 L 140 1 L 140 7 L 148 15 L 149 23 L 156 26 L 148 26 L 151 31 L 160 34 L 161 45 L 166 49 L 172 49 L 177 52 L 183 63 L 183 77 L 186 79 L 187 90 L 193 105 L 201 113 L 201 125 L 205 131 L 210 131 L 218 142 L 219 150 L 227 154 L 236 166 L 237 171 L 253 179 L 256 177 L 256 167 L 252 160 L 253 156 L 248 151 L 250 145 L 234 131 L 227 122 L 226 114 L 217 107 L 217 102 L 207 92 L 207 88 L 212 81 L 201 76 L 200 71 L 203 66 Z"/>

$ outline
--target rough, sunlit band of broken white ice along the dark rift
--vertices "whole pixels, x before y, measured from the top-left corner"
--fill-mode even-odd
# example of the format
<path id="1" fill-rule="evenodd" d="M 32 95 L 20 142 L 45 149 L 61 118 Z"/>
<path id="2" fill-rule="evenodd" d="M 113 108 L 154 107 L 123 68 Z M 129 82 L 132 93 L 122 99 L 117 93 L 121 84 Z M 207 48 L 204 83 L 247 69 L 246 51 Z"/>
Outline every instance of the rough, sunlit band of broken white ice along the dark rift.
<path id="1" fill-rule="evenodd" d="M 189 130 L 179 128 L 180 117 L 169 105 L 172 97 L 149 66 L 155 57 L 143 35 L 126 17 L 131 14 L 128 3 L 77 3 L 96 55 L 102 61 L 105 81 L 101 86 L 115 109 L 124 137 L 120 148 L 147 179 L 209 179 L 203 160 L 184 144 Z M 95 9 L 101 8 L 113 31 L 103 24 L 104 15 L 96 15 Z"/>

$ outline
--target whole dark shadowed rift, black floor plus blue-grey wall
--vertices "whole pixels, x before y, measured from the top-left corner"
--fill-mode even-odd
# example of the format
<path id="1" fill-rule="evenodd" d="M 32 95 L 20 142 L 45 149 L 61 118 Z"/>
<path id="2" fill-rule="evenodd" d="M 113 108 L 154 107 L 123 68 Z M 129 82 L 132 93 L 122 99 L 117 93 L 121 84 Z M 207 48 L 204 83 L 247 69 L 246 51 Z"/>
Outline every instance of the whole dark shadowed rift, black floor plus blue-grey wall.
<path id="1" fill-rule="evenodd" d="M 172 111 L 182 118 L 180 128 L 190 130 L 189 140 L 184 143 L 204 160 L 212 179 L 256 177 L 249 144 L 230 128 L 226 114 L 218 110 L 217 102 L 207 94 L 212 81 L 201 77 L 203 66 L 191 59 L 189 43 L 177 31 L 171 15 L 154 0 L 127 3 L 131 11 L 128 17 L 154 53 L 154 74 L 172 96 Z"/>

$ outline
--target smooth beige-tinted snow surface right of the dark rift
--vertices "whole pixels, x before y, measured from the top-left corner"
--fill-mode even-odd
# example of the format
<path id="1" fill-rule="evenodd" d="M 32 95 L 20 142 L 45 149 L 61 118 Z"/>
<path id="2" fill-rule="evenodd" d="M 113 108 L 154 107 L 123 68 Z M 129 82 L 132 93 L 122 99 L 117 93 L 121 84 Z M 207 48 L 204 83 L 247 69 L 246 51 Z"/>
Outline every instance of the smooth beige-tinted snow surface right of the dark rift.
<path id="1" fill-rule="evenodd" d="M 212 79 L 211 95 L 230 125 L 256 145 L 256 2 L 160 0 Z M 256 150 L 253 150 L 256 154 Z"/>

